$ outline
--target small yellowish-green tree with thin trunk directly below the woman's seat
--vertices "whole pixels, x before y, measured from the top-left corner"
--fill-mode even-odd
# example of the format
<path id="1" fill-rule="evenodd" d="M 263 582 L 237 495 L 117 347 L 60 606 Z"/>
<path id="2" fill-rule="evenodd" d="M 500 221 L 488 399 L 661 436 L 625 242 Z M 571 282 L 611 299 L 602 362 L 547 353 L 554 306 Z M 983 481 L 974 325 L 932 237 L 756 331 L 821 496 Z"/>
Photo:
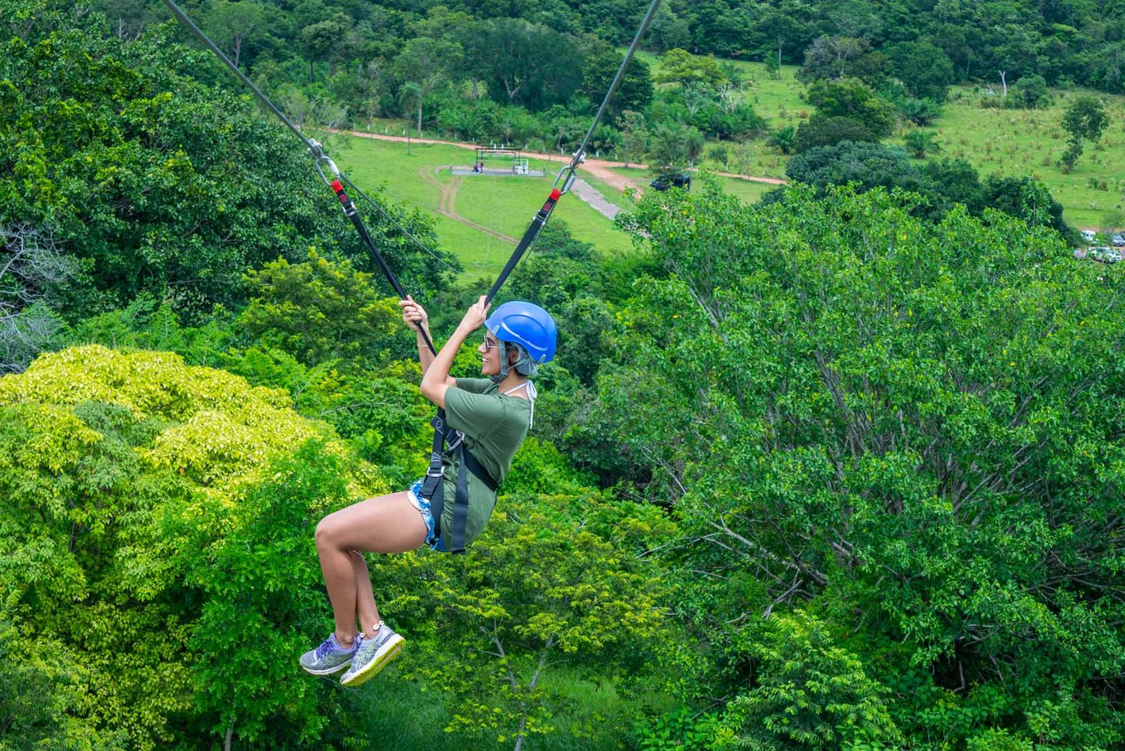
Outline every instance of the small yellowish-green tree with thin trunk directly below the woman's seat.
<path id="1" fill-rule="evenodd" d="M 537 461 L 528 476 L 550 461 Z M 428 599 L 453 640 L 424 661 L 408 656 L 407 674 L 448 691 L 457 707 L 450 730 L 514 749 L 555 730 L 562 697 L 544 680 L 550 665 L 637 670 L 662 625 L 658 580 L 613 542 L 660 526 L 659 515 L 550 489 L 506 495 L 471 555 L 397 556 L 376 573 L 389 591 L 402 590 L 398 581 L 432 580 Z"/>

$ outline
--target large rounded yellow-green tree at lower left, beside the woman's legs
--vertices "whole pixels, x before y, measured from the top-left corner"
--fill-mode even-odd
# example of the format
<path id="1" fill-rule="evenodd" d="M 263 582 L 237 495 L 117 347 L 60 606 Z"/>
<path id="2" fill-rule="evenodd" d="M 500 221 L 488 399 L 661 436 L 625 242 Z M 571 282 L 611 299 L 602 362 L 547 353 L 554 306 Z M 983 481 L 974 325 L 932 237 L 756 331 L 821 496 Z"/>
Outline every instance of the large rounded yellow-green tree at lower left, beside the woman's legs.
<path id="1" fill-rule="evenodd" d="M 0 488 L 18 498 L 0 508 L 0 620 L 65 644 L 87 697 L 44 706 L 71 703 L 75 726 L 134 749 L 322 736 L 331 697 L 278 680 L 291 665 L 256 650 L 266 640 L 290 653 L 321 635 L 312 525 L 349 482 L 385 490 L 374 467 L 284 392 L 166 352 L 40 356 L 0 379 Z M 271 468 L 309 440 L 288 473 Z M 306 585 L 278 589 L 296 581 Z M 236 668 L 232 644 L 258 668 L 218 680 Z"/>

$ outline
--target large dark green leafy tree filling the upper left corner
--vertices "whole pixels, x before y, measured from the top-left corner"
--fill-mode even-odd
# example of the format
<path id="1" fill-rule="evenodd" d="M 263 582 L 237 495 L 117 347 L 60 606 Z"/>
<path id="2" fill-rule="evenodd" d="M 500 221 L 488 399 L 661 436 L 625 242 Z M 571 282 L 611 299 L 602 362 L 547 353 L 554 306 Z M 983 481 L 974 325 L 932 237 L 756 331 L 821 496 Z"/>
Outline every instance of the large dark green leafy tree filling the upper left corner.
<path id="1" fill-rule="evenodd" d="M 302 259 L 309 243 L 369 262 L 291 134 L 249 100 L 186 77 L 219 75 L 208 57 L 166 27 L 126 43 L 97 14 L 29 8 L 22 36 L 9 35 L 0 55 L 0 205 L 7 226 L 50 225 L 72 259 L 76 274 L 56 302 L 69 320 L 142 292 L 191 315 L 235 309 L 246 268 Z M 387 209 L 433 242 L 421 214 Z M 366 218 L 413 288 L 448 279 L 389 222 Z"/>

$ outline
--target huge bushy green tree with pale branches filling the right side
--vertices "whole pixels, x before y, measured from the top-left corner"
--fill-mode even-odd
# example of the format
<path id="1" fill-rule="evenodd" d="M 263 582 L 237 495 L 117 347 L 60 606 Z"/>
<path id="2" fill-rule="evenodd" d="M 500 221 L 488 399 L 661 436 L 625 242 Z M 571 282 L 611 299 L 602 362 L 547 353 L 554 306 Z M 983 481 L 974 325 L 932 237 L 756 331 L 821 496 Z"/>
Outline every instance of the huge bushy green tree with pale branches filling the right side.
<path id="1" fill-rule="evenodd" d="M 722 669 L 700 697 L 764 686 L 740 704 L 799 728 L 850 732 L 831 712 L 866 706 L 896 748 L 997 727 L 1118 744 L 1122 279 L 1022 218 L 914 205 L 792 187 L 745 206 L 706 184 L 642 199 L 633 226 L 668 272 L 638 280 L 587 424 L 683 525 L 677 617 L 700 627 L 677 668 Z M 753 625 L 798 610 L 820 636 Z"/>

